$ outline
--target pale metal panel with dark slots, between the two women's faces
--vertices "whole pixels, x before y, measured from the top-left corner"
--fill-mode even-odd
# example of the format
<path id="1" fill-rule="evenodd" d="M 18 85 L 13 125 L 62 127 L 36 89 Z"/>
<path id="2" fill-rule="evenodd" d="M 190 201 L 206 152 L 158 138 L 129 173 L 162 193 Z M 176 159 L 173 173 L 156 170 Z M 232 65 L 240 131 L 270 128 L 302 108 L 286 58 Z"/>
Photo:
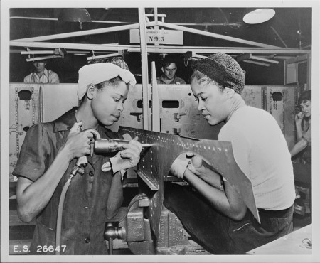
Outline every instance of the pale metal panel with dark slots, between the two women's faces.
<path id="1" fill-rule="evenodd" d="M 193 97 L 190 85 L 158 85 L 158 92 L 161 132 L 193 138 L 218 138 L 223 124 L 210 127 L 203 119 L 201 112 L 198 111 L 198 103 Z M 151 101 L 151 95 L 149 95 L 149 100 Z M 171 103 L 178 104 L 178 107 L 171 107 Z M 149 111 L 151 116 L 151 108 Z M 120 126 L 143 129 L 142 119 L 142 85 L 138 84 L 130 87 L 119 121 L 108 128 L 114 132 L 117 132 Z M 149 121 L 151 122 L 151 119 Z"/>

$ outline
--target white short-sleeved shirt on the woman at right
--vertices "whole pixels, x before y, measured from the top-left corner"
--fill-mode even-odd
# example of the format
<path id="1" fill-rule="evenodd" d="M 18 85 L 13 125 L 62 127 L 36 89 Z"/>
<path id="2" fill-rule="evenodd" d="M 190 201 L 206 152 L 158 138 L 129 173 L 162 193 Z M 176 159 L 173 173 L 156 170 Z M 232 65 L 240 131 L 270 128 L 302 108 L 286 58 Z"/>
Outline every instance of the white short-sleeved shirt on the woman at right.
<path id="1" fill-rule="evenodd" d="M 219 141 L 231 141 L 235 161 L 250 178 L 257 208 L 283 210 L 295 199 L 291 156 L 274 117 L 240 107 L 222 127 Z"/>

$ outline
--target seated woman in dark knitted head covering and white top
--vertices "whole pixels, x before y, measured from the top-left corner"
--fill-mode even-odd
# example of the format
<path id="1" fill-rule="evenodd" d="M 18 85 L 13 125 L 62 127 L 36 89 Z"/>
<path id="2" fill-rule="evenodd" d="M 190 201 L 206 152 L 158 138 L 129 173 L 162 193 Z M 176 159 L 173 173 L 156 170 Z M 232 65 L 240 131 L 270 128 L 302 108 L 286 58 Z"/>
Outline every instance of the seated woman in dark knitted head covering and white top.
<path id="1" fill-rule="evenodd" d="M 295 192 L 290 153 L 272 115 L 245 104 L 241 97 L 245 72 L 233 58 L 217 53 L 191 68 L 198 110 L 210 125 L 225 123 L 218 140 L 232 142 L 235 161 L 251 181 L 261 223 L 225 179 L 228 176 L 203 166 L 200 156 L 175 170 L 194 190 L 169 183 L 164 205 L 209 252 L 244 254 L 292 232 Z"/>

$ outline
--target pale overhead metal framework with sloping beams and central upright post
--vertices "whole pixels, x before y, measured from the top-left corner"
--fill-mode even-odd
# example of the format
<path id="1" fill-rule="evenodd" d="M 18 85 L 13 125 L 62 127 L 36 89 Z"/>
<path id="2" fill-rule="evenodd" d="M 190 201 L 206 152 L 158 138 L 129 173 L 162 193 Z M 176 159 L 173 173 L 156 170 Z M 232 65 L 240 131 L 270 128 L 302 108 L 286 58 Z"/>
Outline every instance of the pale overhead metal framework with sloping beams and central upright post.
<path id="1" fill-rule="evenodd" d="M 149 17 L 153 16 L 154 21 L 149 21 Z M 18 17 L 21 18 L 21 17 Z M 158 18 L 161 18 L 161 21 L 158 21 Z M 311 84 L 311 59 L 310 54 L 311 50 L 301 50 L 301 49 L 289 49 L 289 48 L 279 48 L 274 45 L 266 45 L 263 43 L 258 43 L 254 41 L 247 41 L 241 38 L 234 38 L 230 36 L 224 36 L 217 33 L 210 33 L 207 31 L 202 31 L 194 28 L 188 28 L 186 26 L 179 26 L 178 24 L 171 24 L 164 22 L 165 15 L 158 14 L 157 9 L 154 9 L 154 15 L 145 14 L 144 7 L 139 7 L 139 23 L 132 23 L 122 26 L 112 26 L 108 28 L 99 28 L 92 29 L 87 31 L 78 31 L 78 32 L 70 32 L 70 33 L 60 33 L 55 35 L 48 36 L 38 36 L 33 38 L 21 38 L 10 41 L 11 47 L 23 47 L 27 48 L 27 51 L 23 51 L 23 54 L 34 54 L 34 50 L 30 50 L 30 48 L 51 48 L 58 50 L 58 54 L 55 52 L 55 55 L 51 55 L 52 57 L 63 58 L 63 55 L 68 53 L 74 53 L 74 50 L 78 50 L 78 52 L 91 52 L 92 57 L 88 59 L 102 58 L 108 57 L 112 55 L 119 55 L 125 52 L 139 52 L 142 56 L 142 72 L 146 74 L 142 74 L 142 86 L 143 89 L 143 114 L 144 114 L 144 129 L 151 129 L 151 124 L 149 123 L 149 103 L 148 103 L 148 60 L 147 53 L 191 53 L 193 58 L 204 58 L 206 54 L 212 53 L 228 53 L 230 55 L 234 54 L 234 56 L 250 54 L 245 62 L 247 63 L 255 63 L 258 65 L 269 66 L 270 63 L 277 63 L 276 55 L 282 55 L 281 59 L 289 59 L 296 58 L 300 55 L 306 55 L 308 58 L 307 64 L 307 81 L 308 86 Z M 42 18 L 41 18 L 42 19 Z M 252 45 L 252 48 L 224 48 L 224 47 L 194 47 L 194 46 L 178 46 L 178 45 L 148 45 L 146 43 L 146 28 L 171 28 L 178 31 L 185 31 L 189 33 L 195 33 L 201 36 L 209 36 L 213 38 L 223 39 L 225 41 L 232 41 L 235 43 Z M 53 43 L 53 42 L 42 42 L 42 41 L 53 41 L 60 38 L 71 38 L 76 36 L 87 36 L 87 35 L 95 35 L 101 33 L 110 33 L 115 31 L 126 31 L 130 29 L 139 28 L 140 31 L 140 46 L 139 45 L 117 45 L 117 44 L 106 44 L 106 45 L 92 45 L 92 44 L 80 44 L 80 43 Z M 63 52 L 60 52 L 63 50 Z M 51 53 L 51 52 L 50 52 Z M 95 54 L 96 53 L 96 54 Z M 107 55 L 97 55 L 97 53 L 109 53 Z M 21 52 L 22 54 L 22 52 Z M 252 55 L 255 54 L 255 55 Z M 262 58 L 261 56 L 271 55 L 272 60 Z M 285 55 L 285 57 L 283 57 Z M 278 59 L 278 58 L 277 58 Z M 279 58 L 280 59 L 280 58 Z M 36 60 L 36 58 L 33 58 Z M 287 67 L 287 63 L 285 65 Z M 297 71 L 297 69 L 296 69 Z M 284 79 L 284 83 L 287 83 L 287 75 Z"/>

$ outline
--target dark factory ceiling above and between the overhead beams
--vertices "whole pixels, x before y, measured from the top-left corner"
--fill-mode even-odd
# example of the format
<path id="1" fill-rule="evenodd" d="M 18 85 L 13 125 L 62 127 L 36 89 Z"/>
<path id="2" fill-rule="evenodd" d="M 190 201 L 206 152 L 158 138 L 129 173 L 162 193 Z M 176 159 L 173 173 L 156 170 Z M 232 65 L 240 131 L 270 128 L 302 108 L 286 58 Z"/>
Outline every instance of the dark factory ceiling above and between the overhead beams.
<path id="1" fill-rule="evenodd" d="M 48 36 L 61 33 L 92 31 L 99 28 L 125 26 L 139 23 L 137 8 L 87 8 L 92 21 L 82 23 L 58 21 L 60 8 L 12 8 L 10 9 L 10 40 Z M 187 28 L 215 33 L 245 41 L 254 41 L 277 48 L 311 49 L 312 9 L 274 8 L 274 17 L 265 23 L 247 24 L 242 21 L 245 8 L 148 8 L 146 14 L 164 14 L 164 22 Z M 149 21 L 154 21 L 150 17 Z M 159 18 L 161 21 L 161 18 Z M 196 36 L 196 37 L 195 37 Z M 44 41 L 46 42 L 46 41 Z M 129 31 L 87 34 L 57 38 L 49 42 L 84 43 L 87 45 L 132 45 Z M 195 35 L 184 32 L 183 46 L 224 48 L 252 48 L 252 45 L 228 41 L 222 38 Z M 21 50 L 11 45 L 11 52 Z"/>

